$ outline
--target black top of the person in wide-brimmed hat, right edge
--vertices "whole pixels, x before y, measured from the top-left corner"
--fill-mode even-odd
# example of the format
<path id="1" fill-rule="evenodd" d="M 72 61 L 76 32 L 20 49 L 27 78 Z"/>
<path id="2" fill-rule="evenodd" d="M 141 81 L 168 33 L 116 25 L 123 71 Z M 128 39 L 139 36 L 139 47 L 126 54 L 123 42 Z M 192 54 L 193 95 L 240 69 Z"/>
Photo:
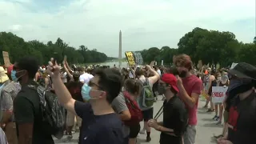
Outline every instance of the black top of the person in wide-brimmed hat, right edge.
<path id="1" fill-rule="evenodd" d="M 240 101 L 236 97 L 230 106 L 228 139 L 233 144 L 256 142 L 256 94 Z"/>

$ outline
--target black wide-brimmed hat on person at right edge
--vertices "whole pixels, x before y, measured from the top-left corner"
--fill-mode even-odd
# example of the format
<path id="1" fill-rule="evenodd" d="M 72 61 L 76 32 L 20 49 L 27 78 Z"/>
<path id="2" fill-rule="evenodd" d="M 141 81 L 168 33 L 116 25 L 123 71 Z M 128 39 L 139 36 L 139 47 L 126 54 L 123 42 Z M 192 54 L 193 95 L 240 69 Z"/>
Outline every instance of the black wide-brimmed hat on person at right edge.
<path id="1" fill-rule="evenodd" d="M 230 69 L 228 73 L 238 78 L 250 78 L 256 80 L 256 67 L 246 62 L 239 62 L 233 69 Z"/>

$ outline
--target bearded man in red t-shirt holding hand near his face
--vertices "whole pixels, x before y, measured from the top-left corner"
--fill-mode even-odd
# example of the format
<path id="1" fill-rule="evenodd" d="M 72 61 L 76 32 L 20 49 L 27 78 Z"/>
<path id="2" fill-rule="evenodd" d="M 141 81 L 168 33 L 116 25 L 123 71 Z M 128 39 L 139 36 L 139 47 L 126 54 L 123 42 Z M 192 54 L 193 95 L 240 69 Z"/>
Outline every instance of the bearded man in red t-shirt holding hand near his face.
<path id="1" fill-rule="evenodd" d="M 179 90 L 178 96 L 185 103 L 189 113 L 188 126 L 183 135 L 184 144 L 194 144 L 196 125 L 198 122 L 198 98 L 202 90 L 202 80 L 190 73 L 190 71 L 193 70 L 190 56 L 186 54 L 175 56 L 174 65 L 178 70 L 178 75 L 176 76 Z"/>

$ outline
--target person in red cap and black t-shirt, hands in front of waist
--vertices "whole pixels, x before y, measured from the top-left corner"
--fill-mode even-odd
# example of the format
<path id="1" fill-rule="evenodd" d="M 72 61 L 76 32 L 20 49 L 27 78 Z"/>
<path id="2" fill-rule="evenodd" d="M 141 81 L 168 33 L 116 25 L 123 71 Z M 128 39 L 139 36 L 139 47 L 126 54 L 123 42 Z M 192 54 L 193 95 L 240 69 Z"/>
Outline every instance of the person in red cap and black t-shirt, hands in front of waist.
<path id="1" fill-rule="evenodd" d="M 178 98 L 177 79 L 173 74 L 163 74 L 159 80 L 158 92 L 166 95 L 163 104 L 162 122 L 150 119 L 150 127 L 161 132 L 160 144 L 182 144 L 188 115 L 184 103 Z"/>

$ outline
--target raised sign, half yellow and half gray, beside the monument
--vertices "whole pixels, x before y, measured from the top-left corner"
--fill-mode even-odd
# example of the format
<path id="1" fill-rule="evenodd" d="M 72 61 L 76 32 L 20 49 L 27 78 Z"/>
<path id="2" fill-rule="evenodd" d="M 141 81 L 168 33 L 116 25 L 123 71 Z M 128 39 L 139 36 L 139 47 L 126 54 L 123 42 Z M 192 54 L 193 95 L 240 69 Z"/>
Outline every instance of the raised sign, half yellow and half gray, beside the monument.
<path id="1" fill-rule="evenodd" d="M 125 54 L 130 66 L 143 64 L 143 58 L 140 52 L 126 51 Z"/>

